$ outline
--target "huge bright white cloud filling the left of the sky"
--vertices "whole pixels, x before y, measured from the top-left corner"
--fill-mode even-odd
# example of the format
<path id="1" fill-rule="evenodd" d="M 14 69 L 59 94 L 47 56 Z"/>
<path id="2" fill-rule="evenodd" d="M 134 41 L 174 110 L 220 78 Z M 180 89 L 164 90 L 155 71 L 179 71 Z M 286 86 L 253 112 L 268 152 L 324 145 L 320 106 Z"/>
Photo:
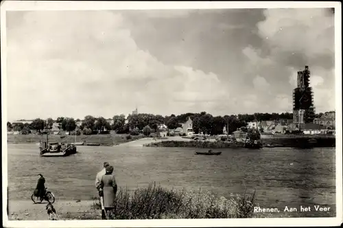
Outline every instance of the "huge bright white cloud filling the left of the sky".
<path id="1" fill-rule="evenodd" d="M 8 30 L 8 115 L 112 117 L 136 105 L 167 115 L 228 98 L 215 73 L 140 49 L 126 23 L 113 12 L 27 12 Z"/>

